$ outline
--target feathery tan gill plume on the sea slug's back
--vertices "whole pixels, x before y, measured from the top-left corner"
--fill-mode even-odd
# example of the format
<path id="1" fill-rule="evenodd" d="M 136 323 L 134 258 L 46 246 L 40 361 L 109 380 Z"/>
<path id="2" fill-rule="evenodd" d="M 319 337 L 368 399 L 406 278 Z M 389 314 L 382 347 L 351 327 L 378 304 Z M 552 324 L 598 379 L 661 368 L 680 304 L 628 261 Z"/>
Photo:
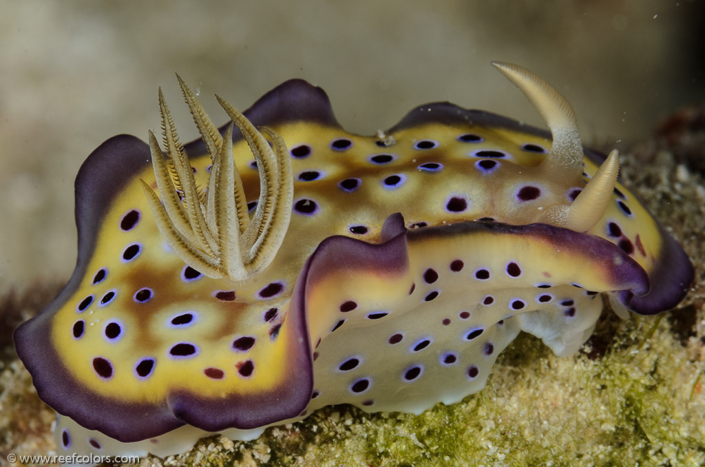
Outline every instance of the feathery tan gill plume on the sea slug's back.
<path id="1" fill-rule="evenodd" d="M 288 150 L 271 128 L 258 131 L 243 114 L 216 96 L 232 120 L 221 137 L 193 92 L 177 78 L 213 162 L 208 189 L 204 193 L 196 187 L 161 89 L 159 110 L 167 158 L 154 133 L 149 132 L 161 200 L 145 181 L 142 188 L 161 235 L 183 262 L 214 279 L 249 279 L 271 263 L 288 229 L 293 202 Z M 243 133 L 259 168 L 260 194 L 252 219 L 233 162 L 233 124 Z M 262 133 L 270 138 L 271 147 Z"/>

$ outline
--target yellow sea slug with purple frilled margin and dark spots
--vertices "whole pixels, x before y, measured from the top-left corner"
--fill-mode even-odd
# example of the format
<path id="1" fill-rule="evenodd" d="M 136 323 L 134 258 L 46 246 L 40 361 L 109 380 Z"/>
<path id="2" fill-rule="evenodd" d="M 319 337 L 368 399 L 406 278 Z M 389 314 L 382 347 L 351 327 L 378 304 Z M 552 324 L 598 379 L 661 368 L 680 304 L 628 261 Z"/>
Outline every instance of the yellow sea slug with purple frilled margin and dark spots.
<path id="1" fill-rule="evenodd" d="M 329 404 L 419 413 L 484 387 L 520 331 L 577 351 L 603 308 L 685 296 L 680 245 L 582 146 L 534 73 L 493 63 L 550 133 L 439 102 L 353 135 L 290 80 L 202 135 L 118 135 L 76 178 L 78 261 L 15 334 L 64 453 L 173 454 Z"/>

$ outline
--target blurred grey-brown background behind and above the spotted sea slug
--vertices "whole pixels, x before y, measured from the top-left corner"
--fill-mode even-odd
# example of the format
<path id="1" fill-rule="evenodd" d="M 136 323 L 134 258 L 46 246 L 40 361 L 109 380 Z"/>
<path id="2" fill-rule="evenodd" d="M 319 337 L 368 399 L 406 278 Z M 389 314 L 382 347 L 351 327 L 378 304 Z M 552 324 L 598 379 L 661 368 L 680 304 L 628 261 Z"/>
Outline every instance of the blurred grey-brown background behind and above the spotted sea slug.
<path id="1" fill-rule="evenodd" d="M 705 2 L 0 0 L 0 291 L 65 281 L 73 179 L 118 133 L 159 128 L 164 89 L 196 136 L 173 73 L 245 109 L 288 78 L 331 97 L 348 131 L 389 128 L 448 100 L 543 126 L 491 60 L 568 97 L 584 139 L 625 149 L 705 98 Z"/>

